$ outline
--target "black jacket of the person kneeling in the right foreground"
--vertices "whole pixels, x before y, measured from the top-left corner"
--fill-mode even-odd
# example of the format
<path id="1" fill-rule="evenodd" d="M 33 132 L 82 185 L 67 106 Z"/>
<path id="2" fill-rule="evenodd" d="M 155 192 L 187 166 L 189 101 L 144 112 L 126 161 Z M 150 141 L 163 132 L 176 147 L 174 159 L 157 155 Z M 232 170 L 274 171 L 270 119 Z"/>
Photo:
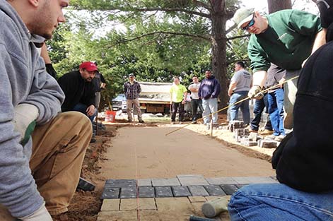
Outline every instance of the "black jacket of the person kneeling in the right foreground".
<path id="1" fill-rule="evenodd" d="M 317 49 L 300 71 L 293 133 L 272 159 L 283 184 L 308 192 L 333 191 L 333 42 Z"/>

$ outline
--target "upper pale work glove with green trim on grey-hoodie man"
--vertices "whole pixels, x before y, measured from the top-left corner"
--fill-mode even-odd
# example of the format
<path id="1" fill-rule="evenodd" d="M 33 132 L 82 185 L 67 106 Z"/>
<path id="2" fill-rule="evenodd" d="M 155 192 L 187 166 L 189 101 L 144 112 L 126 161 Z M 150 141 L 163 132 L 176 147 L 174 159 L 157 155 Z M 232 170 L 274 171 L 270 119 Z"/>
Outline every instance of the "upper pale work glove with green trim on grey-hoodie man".
<path id="1" fill-rule="evenodd" d="M 21 133 L 21 145 L 28 143 L 31 133 L 35 129 L 38 108 L 32 104 L 18 104 L 14 108 L 14 130 Z"/>

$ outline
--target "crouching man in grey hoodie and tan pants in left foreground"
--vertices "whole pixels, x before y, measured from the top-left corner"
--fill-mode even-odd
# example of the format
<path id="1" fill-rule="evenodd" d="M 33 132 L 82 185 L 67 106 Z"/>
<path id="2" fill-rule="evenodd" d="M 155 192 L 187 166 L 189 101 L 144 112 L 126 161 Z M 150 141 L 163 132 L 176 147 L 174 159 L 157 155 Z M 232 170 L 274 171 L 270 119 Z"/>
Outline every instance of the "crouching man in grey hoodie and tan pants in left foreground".
<path id="1" fill-rule="evenodd" d="M 52 220 L 68 210 L 78 184 L 90 121 L 59 114 L 64 92 L 33 44 L 52 37 L 68 4 L 0 0 L 1 221 Z"/>

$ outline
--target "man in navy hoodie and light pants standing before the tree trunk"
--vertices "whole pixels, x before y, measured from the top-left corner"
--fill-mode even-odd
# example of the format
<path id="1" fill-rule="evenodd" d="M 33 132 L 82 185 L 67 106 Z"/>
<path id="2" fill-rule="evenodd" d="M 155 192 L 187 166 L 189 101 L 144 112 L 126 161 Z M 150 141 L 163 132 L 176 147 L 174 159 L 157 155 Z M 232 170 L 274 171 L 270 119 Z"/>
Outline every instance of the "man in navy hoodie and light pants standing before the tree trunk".
<path id="1" fill-rule="evenodd" d="M 213 123 L 217 123 L 218 115 L 217 115 L 217 97 L 221 92 L 220 83 L 218 80 L 211 75 L 211 71 L 207 70 L 205 72 L 204 80 L 201 81 L 199 86 L 198 95 L 202 100 L 202 107 L 204 108 L 204 112 L 202 113 L 202 117 L 204 118 L 204 124 L 209 124 L 211 118 L 209 114 L 213 114 Z"/>

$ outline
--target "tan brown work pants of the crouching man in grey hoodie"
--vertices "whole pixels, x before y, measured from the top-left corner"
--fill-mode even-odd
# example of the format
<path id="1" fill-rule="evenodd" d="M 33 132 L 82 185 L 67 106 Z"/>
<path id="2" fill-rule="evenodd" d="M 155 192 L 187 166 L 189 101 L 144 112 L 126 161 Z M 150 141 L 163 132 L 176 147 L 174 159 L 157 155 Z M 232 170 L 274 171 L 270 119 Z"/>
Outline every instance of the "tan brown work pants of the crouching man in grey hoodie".
<path id="1" fill-rule="evenodd" d="M 30 169 L 51 215 L 68 211 L 90 142 L 90 120 L 79 112 L 59 114 L 33 132 Z M 15 220 L 4 207 L 0 220 Z"/>

